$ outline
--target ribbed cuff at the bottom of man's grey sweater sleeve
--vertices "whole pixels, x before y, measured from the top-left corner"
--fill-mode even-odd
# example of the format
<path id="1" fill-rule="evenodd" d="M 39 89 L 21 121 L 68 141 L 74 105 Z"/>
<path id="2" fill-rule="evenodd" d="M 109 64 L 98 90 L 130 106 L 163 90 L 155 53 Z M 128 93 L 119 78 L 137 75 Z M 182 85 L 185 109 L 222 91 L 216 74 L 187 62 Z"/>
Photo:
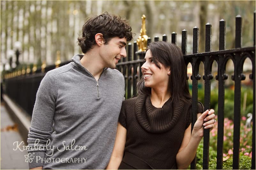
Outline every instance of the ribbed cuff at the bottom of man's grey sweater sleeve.
<path id="1" fill-rule="evenodd" d="M 32 154 L 32 156 L 30 156 L 30 160 L 32 159 L 33 161 L 30 163 L 28 161 L 28 168 L 35 168 L 35 167 L 42 167 L 44 164 L 44 157 L 45 157 L 45 151 L 36 151 L 36 152 L 29 152 Z M 34 157 L 33 157 L 34 156 Z M 40 160 L 37 160 L 37 156 L 40 156 Z"/>

